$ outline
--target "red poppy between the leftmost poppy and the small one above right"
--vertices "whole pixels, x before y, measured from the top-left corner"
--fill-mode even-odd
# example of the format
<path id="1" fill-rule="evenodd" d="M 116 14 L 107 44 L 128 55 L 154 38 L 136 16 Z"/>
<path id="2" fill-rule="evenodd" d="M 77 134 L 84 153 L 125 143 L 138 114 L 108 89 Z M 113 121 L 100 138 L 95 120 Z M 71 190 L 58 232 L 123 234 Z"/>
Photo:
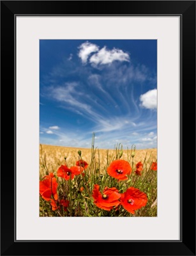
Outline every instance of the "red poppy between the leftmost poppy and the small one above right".
<path id="1" fill-rule="evenodd" d="M 68 168 L 66 165 L 61 165 L 57 170 L 57 176 L 65 180 L 69 180 L 70 177 L 73 180 L 75 175 L 79 175 L 84 169 L 80 166 L 72 166 Z"/>

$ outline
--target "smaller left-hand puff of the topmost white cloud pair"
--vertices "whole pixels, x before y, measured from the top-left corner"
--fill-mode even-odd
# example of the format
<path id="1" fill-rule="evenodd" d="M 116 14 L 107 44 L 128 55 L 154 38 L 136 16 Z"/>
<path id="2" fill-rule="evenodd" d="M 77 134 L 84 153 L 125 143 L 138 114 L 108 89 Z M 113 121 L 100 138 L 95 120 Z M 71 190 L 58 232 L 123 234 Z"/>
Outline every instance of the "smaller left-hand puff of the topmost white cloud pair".
<path id="1" fill-rule="evenodd" d="M 99 47 L 96 44 L 85 42 L 84 44 L 81 44 L 79 46 L 79 49 L 79 57 L 82 60 L 82 63 L 87 63 L 87 58 L 89 57 L 89 54 L 91 54 L 92 52 L 97 52 Z"/>

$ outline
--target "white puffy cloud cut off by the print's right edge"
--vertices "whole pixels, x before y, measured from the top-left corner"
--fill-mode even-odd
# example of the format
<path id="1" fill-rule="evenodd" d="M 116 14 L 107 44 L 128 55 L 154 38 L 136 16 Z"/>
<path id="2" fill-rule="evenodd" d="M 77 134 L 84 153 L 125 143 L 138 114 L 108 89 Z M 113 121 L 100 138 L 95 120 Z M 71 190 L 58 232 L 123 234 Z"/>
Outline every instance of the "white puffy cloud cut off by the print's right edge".
<path id="1" fill-rule="evenodd" d="M 147 109 L 157 108 L 157 90 L 149 90 L 148 92 L 140 95 L 140 106 Z"/>

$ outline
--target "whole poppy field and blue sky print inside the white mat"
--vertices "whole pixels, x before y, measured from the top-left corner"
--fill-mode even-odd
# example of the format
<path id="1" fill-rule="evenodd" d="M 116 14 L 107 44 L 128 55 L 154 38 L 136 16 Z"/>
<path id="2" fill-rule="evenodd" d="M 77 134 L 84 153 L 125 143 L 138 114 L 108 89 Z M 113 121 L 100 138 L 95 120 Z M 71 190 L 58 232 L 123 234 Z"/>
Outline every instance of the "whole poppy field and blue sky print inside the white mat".
<path id="1" fill-rule="evenodd" d="M 157 40 L 40 40 L 40 217 L 157 217 Z"/>

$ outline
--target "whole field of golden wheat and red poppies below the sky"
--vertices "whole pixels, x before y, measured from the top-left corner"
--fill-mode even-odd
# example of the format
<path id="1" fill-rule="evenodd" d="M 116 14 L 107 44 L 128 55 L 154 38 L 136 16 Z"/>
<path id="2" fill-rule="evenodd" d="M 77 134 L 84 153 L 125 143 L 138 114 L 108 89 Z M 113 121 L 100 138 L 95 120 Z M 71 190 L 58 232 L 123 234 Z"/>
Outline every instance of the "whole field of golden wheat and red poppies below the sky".
<path id="1" fill-rule="evenodd" d="M 40 145 L 40 216 L 157 216 L 156 148 Z"/>

